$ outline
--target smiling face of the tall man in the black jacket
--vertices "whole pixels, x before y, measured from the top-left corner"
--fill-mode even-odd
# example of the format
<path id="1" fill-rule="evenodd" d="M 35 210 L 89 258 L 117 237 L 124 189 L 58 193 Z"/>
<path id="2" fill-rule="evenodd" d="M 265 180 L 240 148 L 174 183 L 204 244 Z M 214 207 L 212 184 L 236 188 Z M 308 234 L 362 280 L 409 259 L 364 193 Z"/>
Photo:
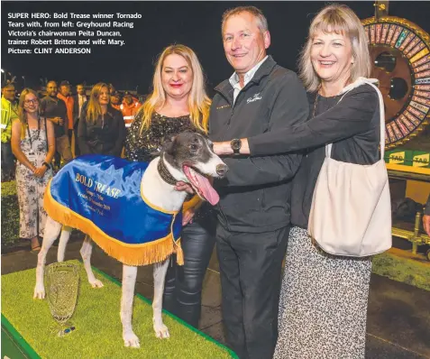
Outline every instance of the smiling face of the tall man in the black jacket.
<path id="1" fill-rule="evenodd" d="M 261 32 L 257 17 L 243 12 L 224 23 L 223 42 L 228 62 L 236 73 L 244 74 L 266 57 L 270 32 Z"/>

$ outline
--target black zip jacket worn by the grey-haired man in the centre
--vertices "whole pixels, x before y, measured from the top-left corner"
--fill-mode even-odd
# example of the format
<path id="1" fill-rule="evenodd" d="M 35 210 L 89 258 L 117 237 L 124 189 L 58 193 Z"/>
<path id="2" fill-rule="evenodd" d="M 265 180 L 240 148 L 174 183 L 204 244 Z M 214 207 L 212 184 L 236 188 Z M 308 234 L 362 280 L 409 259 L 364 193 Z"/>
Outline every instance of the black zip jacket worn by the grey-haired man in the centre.
<path id="1" fill-rule="evenodd" d="M 308 115 L 306 91 L 297 75 L 269 56 L 233 105 L 233 87 L 215 87 L 209 117 L 212 141 L 252 137 L 302 124 Z M 262 233 L 289 225 L 291 179 L 301 156 L 225 158 L 229 171 L 215 180 L 218 220 L 229 231 Z"/>

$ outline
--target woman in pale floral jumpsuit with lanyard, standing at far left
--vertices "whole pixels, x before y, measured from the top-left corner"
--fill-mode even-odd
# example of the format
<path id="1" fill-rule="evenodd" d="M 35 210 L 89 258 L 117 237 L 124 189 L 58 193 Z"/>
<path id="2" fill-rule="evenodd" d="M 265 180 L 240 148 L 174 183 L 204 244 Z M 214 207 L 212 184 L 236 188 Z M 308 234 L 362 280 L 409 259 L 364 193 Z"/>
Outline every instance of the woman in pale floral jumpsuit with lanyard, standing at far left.
<path id="1" fill-rule="evenodd" d="M 52 177 L 50 161 L 55 153 L 54 127 L 41 118 L 39 97 L 24 88 L 18 105 L 19 118 L 12 124 L 12 151 L 16 157 L 16 188 L 20 206 L 20 237 L 31 241 L 32 252 L 39 252 L 46 212 L 43 195 Z"/>

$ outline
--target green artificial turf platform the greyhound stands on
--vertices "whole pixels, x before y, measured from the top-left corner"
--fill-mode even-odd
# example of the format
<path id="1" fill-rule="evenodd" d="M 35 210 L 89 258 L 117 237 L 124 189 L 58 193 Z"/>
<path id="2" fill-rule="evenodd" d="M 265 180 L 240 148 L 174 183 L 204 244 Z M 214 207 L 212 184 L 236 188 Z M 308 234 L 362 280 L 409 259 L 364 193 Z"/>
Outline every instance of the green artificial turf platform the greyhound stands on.
<path id="1" fill-rule="evenodd" d="M 125 348 L 119 315 L 121 287 L 102 272 L 96 277 L 104 287 L 93 289 L 81 262 L 78 305 L 70 319 L 76 330 L 57 337 L 50 333 L 54 319 L 47 300 L 32 299 L 35 270 L 2 276 L 2 315 L 42 358 L 230 358 L 236 357 L 223 345 L 163 314 L 170 338 L 158 339 L 152 329 L 152 308 L 142 298 L 134 298 L 133 330 L 141 348 Z M 183 322 L 182 322 L 183 323 Z"/>

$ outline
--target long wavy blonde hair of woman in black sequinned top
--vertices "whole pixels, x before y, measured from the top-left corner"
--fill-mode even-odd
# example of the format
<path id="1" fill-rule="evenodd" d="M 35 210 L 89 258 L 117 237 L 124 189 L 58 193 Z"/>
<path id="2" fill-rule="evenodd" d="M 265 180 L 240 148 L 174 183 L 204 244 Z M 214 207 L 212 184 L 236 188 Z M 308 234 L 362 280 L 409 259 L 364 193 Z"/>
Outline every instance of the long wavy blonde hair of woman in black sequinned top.
<path id="1" fill-rule="evenodd" d="M 168 46 L 161 52 L 157 60 L 152 80 L 153 91 L 136 114 L 136 116 L 142 115 L 140 133 L 151 126 L 152 115 L 166 103 L 166 93 L 162 85 L 161 71 L 164 60 L 171 54 L 182 56 L 187 60 L 188 66 L 193 71 L 193 86 L 188 95 L 189 117 L 197 129 L 207 133 L 211 100 L 206 95 L 203 69 L 197 59 L 196 53 L 188 48 L 188 46 L 180 44 Z"/>

